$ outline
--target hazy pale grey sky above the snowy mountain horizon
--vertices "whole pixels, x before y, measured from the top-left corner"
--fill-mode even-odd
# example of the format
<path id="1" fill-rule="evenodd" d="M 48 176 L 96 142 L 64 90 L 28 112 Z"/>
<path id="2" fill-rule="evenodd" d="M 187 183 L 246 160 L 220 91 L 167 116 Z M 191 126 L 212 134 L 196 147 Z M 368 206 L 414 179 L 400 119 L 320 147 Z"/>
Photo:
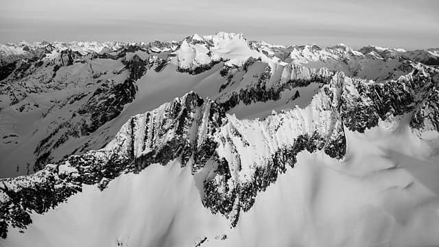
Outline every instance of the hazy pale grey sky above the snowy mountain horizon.
<path id="1" fill-rule="evenodd" d="M 181 40 L 217 31 L 282 45 L 439 47 L 439 1 L 0 0 L 0 43 Z"/>

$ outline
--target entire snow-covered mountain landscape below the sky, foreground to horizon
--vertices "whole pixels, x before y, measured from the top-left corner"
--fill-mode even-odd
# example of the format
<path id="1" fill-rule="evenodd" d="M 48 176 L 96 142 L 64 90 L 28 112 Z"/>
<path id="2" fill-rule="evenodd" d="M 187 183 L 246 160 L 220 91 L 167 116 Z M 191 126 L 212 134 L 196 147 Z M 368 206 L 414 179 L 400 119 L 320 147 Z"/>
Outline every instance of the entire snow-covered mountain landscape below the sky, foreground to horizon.
<path id="1" fill-rule="evenodd" d="M 10 246 L 439 244 L 438 55 L 437 49 L 270 45 L 224 32 L 173 42 L 1 45 L 0 235 Z M 137 184 L 154 176 L 169 183 L 145 184 L 143 198 Z M 342 224 L 322 213 L 337 192 L 320 185 L 334 183 L 361 206 L 333 204 L 335 215 L 352 211 Z M 156 193 L 154 184 L 174 189 Z M 292 191 L 285 204 L 276 198 L 279 189 Z M 361 191 L 374 199 L 353 196 Z M 279 240 L 284 228 L 277 235 L 265 229 L 272 221 L 258 212 L 276 209 L 267 200 L 281 200 L 277 207 L 289 217 L 273 216 L 273 224 L 291 228 L 291 239 Z M 168 201 L 176 205 L 162 212 L 154 206 Z M 85 202 L 106 214 L 97 216 L 93 207 L 79 213 L 75 208 Z M 142 223 L 126 208 L 130 203 L 150 209 L 143 217 L 174 216 Z M 314 220 L 289 209 L 295 206 Z M 117 209 L 126 218 L 108 222 Z M 57 210 L 81 215 L 65 229 L 71 236 L 87 235 L 82 226 L 94 226 L 90 217 L 120 226 L 66 244 L 49 231 L 62 217 Z M 183 233 L 193 220 L 194 231 Z M 349 234 L 353 220 L 377 233 Z M 132 221 L 137 228 L 127 231 Z M 406 242 L 419 224 L 429 227 Z M 320 231 L 328 226 L 341 232 L 327 238 Z M 254 240 L 254 227 L 265 237 Z"/>

